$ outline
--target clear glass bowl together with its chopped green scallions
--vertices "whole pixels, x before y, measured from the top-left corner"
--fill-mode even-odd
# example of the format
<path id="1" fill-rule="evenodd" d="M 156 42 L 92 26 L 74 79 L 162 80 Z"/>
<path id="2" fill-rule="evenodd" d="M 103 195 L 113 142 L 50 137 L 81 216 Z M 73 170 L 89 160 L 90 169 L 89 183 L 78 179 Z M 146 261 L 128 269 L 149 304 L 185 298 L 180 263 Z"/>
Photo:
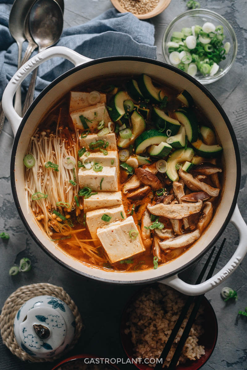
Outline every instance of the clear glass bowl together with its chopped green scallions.
<path id="1" fill-rule="evenodd" d="M 166 63 L 206 85 L 230 70 L 237 55 L 237 38 L 230 23 L 220 14 L 192 9 L 168 24 L 162 50 Z"/>

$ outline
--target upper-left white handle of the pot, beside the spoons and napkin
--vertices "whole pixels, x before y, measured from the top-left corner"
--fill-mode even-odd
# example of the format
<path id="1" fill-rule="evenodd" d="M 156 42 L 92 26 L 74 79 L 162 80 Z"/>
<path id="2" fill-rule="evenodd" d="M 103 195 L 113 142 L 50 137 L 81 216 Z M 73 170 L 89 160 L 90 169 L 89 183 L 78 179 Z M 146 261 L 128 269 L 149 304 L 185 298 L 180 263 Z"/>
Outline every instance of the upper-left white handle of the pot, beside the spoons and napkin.
<path id="1" fill-rule="evenodd" d="M 4 113 L 6 114 L 7 119 L 9 120 L 13 133 L 16 135 L 17 129 L 20 126 L 22 118 L 16 113 L 13 107 L 13 97 L 18 88 L 18 86 L 22 83 L 22 81 L 29 75 L 31 71 L 37 68 L 41 63 L 44 61 L 54 58 L 54 57 L 62 57 L 69 60 L 73 63 L 76 67 L 77 65 L 86 63 L 92 59 L 84 57 L 83 55 L 76 53 L 76 51 L 71 50 L 64 46 L 53 46 L 47 50 L 41 51 L 33 58 L 29 59 L 27 63 L 23 64 L 23 66 L 13 75 L 11 80 L 6 86 L 6 89 L 3 93 L 2 98 L 2 106 Z"/>

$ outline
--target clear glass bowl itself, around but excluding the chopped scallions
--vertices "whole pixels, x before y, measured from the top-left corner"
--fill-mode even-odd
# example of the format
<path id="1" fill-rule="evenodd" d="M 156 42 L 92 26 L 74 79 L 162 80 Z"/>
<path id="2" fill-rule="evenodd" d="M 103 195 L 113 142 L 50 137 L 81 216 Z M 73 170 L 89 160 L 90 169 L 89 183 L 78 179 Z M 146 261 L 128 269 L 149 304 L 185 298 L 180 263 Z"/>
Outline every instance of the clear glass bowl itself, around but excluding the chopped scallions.
<path id="1" fill-rule="evenodd" d="M 166 63 L 171 64 L 169 60 L 167 42 L 171 40 L 173 32 L 175 31 L 180 32 L 182 28 L 195 26 L 196 24 L 199 26 L 203 26 L 205 22 L 211 22 L 216 27 L 220 25 L 223 26 L 223 33 L 226 36 L 223 43 L 229 42 L 231 46 L 228 54 L 226 54 L 226 59 L 222 60 L 219 63 L 220 68 L 215 75 L 203 76 L 199 73 L 196 74 L 195 78 L 203 85 L 211 84 L 214 81 L 219 80 L 221 77 L 227 74 L 227 72 L 230 70 L 231 66 L 235 61 L 237 55 L 237 38 L 230 23 L 224 17 L 220 16 L 220 14 L 217 14 L 211 10 L 207 9 L 187 10 L 184 13 L 177 16 L 176 18 L 174 18 L 168 24 L 162 40 L 162 50 L 164 58 L 166 60 Z"/>

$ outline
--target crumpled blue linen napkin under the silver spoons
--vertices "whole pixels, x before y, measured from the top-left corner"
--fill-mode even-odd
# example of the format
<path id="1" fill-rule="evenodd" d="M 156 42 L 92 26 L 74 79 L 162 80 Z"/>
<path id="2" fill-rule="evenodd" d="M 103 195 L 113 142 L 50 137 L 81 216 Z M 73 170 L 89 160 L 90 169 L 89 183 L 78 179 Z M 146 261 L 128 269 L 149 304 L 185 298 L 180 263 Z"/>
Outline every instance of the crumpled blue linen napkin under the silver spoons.
<path id="1" fill-rule="evenodd" d="M 0 0 L 0 99 L 17 70 L 17 44 L 8 28 L 12 3 L 13 0 Z M 138 20 L 131 13 L 118 13 L 115 9 L 107 10 L 85 24 L 65 29 L 56 46 L 69 47 L 92 59 L 116 55 L 156 59 L 154 26 Z M 22 55 L 26 47 L 27 42 L 24 42 Z M 32 56 L 36 53 L 37 50 Z M 73 65 L 62 58 L 53 58 L 40 65 L 34 97 L 71 67 Z M 23 95 L 27 91 L 30 78 L 31 75 L 22 83 Z"/>

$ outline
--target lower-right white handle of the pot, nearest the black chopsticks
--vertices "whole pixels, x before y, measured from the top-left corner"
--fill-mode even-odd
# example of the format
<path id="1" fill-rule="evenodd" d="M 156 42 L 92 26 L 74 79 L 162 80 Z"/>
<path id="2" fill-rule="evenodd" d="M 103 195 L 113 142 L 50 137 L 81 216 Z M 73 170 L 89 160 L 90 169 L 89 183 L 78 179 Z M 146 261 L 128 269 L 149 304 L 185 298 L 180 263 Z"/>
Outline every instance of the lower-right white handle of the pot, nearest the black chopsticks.
<path id="1" fill-rule="evenodd" d="M 244 222 L 238 206 L 236 205 L 230 222 L 235 226 L 239 233 L 239 243 L 237 249 L 227 264 L 204 283 L 192 285 L 181 280 L 177 275 L 161 280 L 160 283 L 166 284 L 178 292 L 189 296 L 201 295 L 221 284 L 238 267 L 247 253 L 247 225 Z"/>

